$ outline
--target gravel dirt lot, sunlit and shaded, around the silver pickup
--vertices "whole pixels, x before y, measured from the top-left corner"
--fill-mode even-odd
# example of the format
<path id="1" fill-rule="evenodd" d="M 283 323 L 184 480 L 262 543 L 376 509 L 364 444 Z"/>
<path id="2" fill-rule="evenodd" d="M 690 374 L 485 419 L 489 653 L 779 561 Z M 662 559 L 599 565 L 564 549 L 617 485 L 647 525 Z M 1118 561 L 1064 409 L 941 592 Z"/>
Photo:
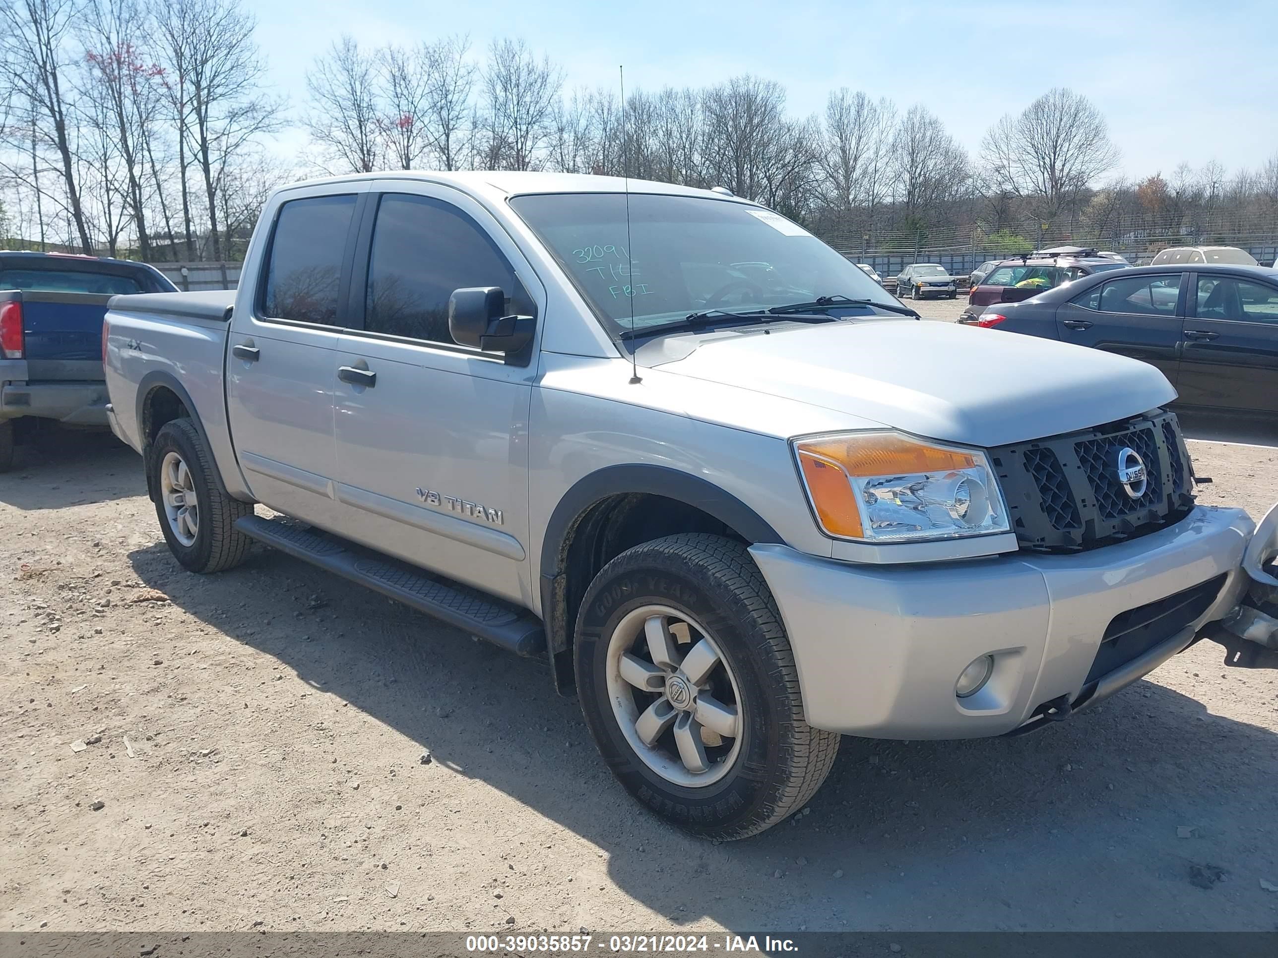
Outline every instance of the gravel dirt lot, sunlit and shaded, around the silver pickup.
<path id="1" fill-rule="evenodd" d="M 1278 498 L 1278 451 L 1194 452 L 1204 501 Z M 801 816 L 713 846 L 542 665 L 279 553 L 181 571 L 106 437 L 20 456 L 0 930 L 1278 927 L 1278 672 L 1212 642 L 1036 736 L 845 738 Z"/>

